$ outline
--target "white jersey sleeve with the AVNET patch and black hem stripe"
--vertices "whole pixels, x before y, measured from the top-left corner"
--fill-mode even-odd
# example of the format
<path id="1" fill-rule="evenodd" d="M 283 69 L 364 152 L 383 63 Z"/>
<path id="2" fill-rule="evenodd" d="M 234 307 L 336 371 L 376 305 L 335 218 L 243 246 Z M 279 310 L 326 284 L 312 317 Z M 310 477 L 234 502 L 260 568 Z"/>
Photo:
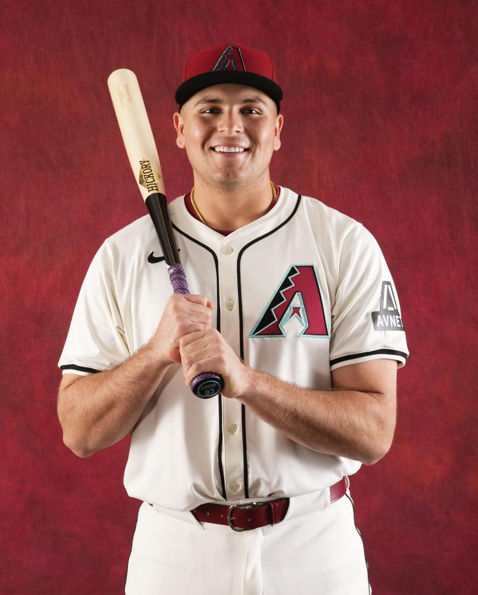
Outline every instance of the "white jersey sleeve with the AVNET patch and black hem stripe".
<path id="1" fill-rule="evenodd" d="M 401 309 L 382 250 L 360 223 L 346 233 L 339 252 L 339 283 L 332 307 L 330 369 L 409 353 Z"/>

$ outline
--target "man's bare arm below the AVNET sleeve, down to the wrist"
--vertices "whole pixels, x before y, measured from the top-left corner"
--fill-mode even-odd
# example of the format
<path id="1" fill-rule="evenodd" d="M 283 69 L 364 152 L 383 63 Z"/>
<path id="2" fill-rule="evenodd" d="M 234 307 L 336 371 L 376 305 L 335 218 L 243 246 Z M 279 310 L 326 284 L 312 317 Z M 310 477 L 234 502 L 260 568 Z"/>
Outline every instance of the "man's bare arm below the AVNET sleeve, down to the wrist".
<path id="1" fill-rule="evenodd" d="M 392 444 L 396 368 L 391 359 L 338 368 L 329 390 L 302 389 L 248 368 L 248 390 L 238 399 L 302 446 L 371 465 Z"/>

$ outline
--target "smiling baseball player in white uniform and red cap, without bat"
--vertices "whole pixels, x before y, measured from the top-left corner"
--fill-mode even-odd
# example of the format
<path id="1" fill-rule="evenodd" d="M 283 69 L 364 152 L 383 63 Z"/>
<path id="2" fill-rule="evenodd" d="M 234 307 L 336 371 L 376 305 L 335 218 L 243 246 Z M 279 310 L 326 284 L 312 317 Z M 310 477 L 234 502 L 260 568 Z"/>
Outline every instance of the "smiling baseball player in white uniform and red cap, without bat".
<path id="1" fill-rule="evenodd" d="M 82 457 L 132 433 L 127 595 L 370 592 L 348 477 L 390 448 L 407 343 L 373 236 L 270 180 L 281 100 L 261 51 L 189 58 L 174 126 L 194 186 L 169 211 L 192 295 L 146 214 L 74 308 L 58 416 Z M 218 396 L 190 391 L 204 371 Z"/>

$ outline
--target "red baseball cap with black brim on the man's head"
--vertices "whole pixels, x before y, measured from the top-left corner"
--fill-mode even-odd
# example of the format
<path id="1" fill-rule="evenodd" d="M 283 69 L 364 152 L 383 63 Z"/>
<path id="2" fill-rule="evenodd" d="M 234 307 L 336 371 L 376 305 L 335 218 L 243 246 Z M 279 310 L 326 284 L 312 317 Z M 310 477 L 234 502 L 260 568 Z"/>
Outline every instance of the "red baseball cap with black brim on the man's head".
<path id="1" fill-rule="evenodd" d="M 273 99 L 279 113 L 282 89 L 271 58 L 258 49 L 238 43 L 218 43 L 189 58 L 183 82 L 176 89 L 179 110 L 198 91 L 222 83 L 247 84 L 260 89 Z"/>

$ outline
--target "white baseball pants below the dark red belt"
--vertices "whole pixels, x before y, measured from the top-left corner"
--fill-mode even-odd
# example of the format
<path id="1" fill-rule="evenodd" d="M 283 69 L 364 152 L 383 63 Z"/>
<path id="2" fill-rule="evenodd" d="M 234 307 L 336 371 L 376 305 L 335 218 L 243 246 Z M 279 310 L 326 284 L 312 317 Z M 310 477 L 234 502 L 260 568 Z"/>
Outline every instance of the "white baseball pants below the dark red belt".
<path id="1" fill-rule="evenodd" d="M 126 595 L 369 595 L 349 490 L 290 498 L 277 525 L 237 533 L 143 502 Z"/>

